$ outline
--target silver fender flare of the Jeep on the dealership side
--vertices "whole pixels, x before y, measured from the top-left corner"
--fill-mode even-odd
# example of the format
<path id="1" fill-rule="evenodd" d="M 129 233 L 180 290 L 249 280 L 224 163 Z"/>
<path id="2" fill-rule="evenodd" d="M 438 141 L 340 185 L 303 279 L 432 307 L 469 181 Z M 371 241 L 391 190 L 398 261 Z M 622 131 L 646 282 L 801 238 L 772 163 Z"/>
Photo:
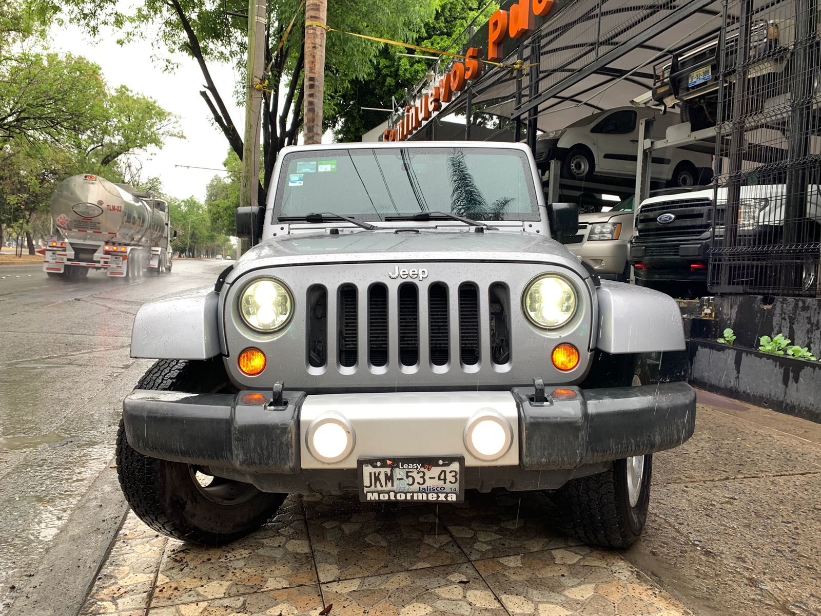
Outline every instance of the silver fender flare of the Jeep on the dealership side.
<path id="1" fill-rule="evenodd" d="M 599 300 L 600 351 L 650 353 L 684 351 L 684 325 L 676 301 L 646 287 L 603 280 Z"/>

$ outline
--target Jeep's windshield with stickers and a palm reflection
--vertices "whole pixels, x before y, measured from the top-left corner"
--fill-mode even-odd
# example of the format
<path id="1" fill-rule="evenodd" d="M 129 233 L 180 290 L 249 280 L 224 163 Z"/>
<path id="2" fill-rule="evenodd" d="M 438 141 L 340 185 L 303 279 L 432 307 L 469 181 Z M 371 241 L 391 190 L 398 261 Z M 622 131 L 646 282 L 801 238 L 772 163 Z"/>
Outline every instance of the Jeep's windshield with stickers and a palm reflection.
<path id="1" fill-rule="evenodd" d="M 364 221 L 452 212 L 539 220 L 530 164 L 505 148 L 352 148 L 286 154 L 276 218 L 333 212 Z"/>

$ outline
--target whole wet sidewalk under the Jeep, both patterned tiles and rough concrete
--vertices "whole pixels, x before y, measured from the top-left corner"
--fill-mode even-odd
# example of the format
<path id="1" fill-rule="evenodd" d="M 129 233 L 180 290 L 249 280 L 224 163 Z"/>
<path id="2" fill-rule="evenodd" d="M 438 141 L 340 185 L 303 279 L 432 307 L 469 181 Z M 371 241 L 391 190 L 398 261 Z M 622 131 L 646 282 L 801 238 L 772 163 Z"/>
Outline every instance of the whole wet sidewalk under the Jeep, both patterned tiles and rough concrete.
<path id="1" fill-rule="evenodd" d="M 655 457 L 648 528 L 624 554 L 569 540 L 540 494 L 392 508 L 292 496 L 214 549 L 130 514 L 82 614 L 818 613 L 821 425 L 699 399 L 694 438 Z"/>

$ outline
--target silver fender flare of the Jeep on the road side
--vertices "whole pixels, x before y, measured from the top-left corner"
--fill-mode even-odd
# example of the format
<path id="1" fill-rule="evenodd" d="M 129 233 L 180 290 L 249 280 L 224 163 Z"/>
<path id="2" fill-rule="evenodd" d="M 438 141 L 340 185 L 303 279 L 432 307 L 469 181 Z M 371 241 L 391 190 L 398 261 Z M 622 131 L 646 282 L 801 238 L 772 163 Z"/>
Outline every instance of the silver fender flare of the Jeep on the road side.
<path id="1" fill-rule="evenodd" d="M 220 354 L 219 294 L 202 287 L 140 306 L 131 329 L 131 356 L 206 360 Z"/>

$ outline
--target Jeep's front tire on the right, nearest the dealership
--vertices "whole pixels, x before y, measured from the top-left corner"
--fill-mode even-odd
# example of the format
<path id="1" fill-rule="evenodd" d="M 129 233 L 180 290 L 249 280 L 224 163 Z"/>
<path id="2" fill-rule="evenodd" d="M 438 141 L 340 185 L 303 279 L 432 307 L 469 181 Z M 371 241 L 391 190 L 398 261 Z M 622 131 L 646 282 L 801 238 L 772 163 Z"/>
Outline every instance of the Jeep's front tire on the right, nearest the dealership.
<path id="1" fill-rule="evenodd" d="M 595 361 L 602 363 L 599 387 L 649 383 L 647 366 L 638 356 L 599 353 Z M 566 511 L 571 533 L 580 540 L 626 548 L 644 531 L 652 476 L 652 453 L 622 458 L 613 461 L 608 471 L 568 481 L 553 497 Z"/>

